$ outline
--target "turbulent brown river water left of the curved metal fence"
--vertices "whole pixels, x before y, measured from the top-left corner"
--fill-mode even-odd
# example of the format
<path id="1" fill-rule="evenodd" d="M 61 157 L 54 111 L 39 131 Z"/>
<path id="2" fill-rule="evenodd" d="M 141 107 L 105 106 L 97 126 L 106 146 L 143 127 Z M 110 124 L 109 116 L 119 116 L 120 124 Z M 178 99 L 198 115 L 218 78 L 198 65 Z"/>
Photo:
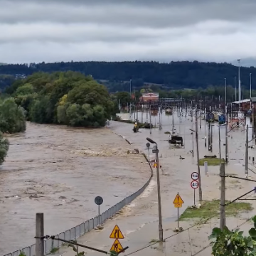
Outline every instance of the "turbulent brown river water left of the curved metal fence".
<path id="1" fill-rule="evenodd" d="M 0 169 L 0 252 L 35 242 L 37 212 L 45 234 L 55 235 L 97 215 L 95 196 L 105 211 L 141 188 L 151 172 L 140 154 L 110 129 L 74 129 L 28 123 L 9 136 Z"/>

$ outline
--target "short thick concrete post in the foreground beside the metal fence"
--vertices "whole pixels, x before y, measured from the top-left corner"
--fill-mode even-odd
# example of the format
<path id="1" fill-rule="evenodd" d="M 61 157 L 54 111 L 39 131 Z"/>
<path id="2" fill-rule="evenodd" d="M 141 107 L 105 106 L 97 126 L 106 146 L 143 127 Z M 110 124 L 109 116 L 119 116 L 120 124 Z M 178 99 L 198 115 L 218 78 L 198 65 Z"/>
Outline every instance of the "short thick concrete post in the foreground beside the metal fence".
<path id="1" fill-rule="evenodd" d="M 43 213 L 36 213 L 36 256 L 44 256 Z"/>

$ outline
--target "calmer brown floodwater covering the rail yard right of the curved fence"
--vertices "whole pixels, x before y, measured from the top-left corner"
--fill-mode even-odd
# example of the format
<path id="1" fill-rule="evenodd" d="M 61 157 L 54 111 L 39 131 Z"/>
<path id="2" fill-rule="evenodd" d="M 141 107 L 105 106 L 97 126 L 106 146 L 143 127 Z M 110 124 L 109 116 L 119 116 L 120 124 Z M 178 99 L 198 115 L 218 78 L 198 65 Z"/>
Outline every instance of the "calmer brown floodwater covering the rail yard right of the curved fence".
<path id="1" fill-rule="evenodd" d="M 172 127 L 172 117 L 163 114 L 161 123 L 163 128 L 152 129 L 151 134 L 149 129 L 140 129 L 138 133 L 132 132 L 132 124 L 125 124 L 120 122 L 111 122 L 110 127 L 114 132 L 124 135 L 134 147 L 139 147 L 147 153 L 146 137 L 150 137 L 157 142 L 159 147 L 160 164 L 163 166 L 163 171 L 160 171 L 161 181 L 161 208 L 163 216 L 164 238 L 166 242 L 164 245 L 154 241 L 159 239 L 158 234 L 158 203 L 156 190 L 156 175 L 152 179 L 146 191 L 135 199 L 129 206 L 122 210 L 122 214 L 117 215 L 114 220 L 107 220 L 103 230 L 92 230 L 78 241 L 86 243 L 88 246 L 96 247 L 101 250 L 109 251 L 114 242 L 109 238 L 114 225 L 119 225 L 119 228 L 124 234 L 124 240 L 120 240 L 123 247 L 129 246 L 124 255 L 193 255 L 198 252 L 198 255 L 210 255 L 210 247 L 208 235 L 215 226 L 219 226 L 218 218 L 213 218 L 207 223 L 196 225 L 194 228 L 186 230 L 178 235 L 174 233 L 174 228 L 177 228 L 177 208 L 174 208 L 173 201 L 177 193 L 183 198 L 183 206 L 180 209 L 181 214 L 188 206 L 193 205 L 193 193 L 191 188 L 191 173 L 197 171 L 196 166 L 196 142 L 194 142 L 194 157 L 191 150 L 193 149 L 193 139 L 189 129 L 195 129 L 194 121 L 191 122 L 190 117 L 178 117 L 177 112 L 174 112 L 174 127 L 176 132 L 184 139 L 185 148 L 177 149 L 170 147 L 168 142 L 168 134 Z M 134 115 L 132 115 L 134 117 Z M 127 118 L 127 114 L 123 114 L 123 118 Z M 139 113 L 138 119 L 141 120 Z M 143 117 L 146 121 L 146 114 Z M 149 117 L 148 117 L 149 121 Z M 158 124 L 159 116 L 152 117 L 152 123 Z M 218 146 L 218 124 L 213 126 L 213 152 L 208 151 L 205 147 L 205 128 L 206 122 L 201 120 L 201 129 L 199 128 L 200 121 L 198 120 L 199 129 L 199 155 L 203 158 L 205 155 L 219 156 Z M 250 126 L 250 121 L 247 119 L 247 124 Z M 193 139 L 192 139 L 193 138 Z M 221 154 L 225 158 L 225 127 L 220 127 L 221 138 Z M 252 129 L 249 129 L 249 140 L 252 139 Z M 250 142 L 254 145 L 255 142 Z M 154 159 L 154 154 L 149 150 L 150 158 Z M 180 159 L 180 156 L 182 159 Z M 256 171 L 252 163 L 252 156 L 255 156 L 255 149 L 249 149 L 249 168 Z M 240 176 L 245 178 L 245 128 L 235 128 L 230 131 L 228 127 L 228 159 L 229 164 L 226 168 L 226 174 L 233 176 Z M 249 174 L 252 179 L 255 179 L 255 174 L 250 171 Z M 220 198 L 220 177 L 219 166 L 208 166 L 208 174 L 206 174 L 203 166 L 201 166 L 201 186 L 203 191 L 203 200 L 213 200 Z M 226 200 L 233 200 L 242 196 L 242 194 L 250 191 L 255 187 L 251 181 L 242 181 L 235 178 L 226 179 Z M 254 198 L 254 193 L 250 193 L 250 198 Z M 248 201 L 247 201 L 248 202 Z M 255 201 L 249 201 L 254 207 Z M 196 204 L 198 203 L 198 189 L 196 190 Z M 245 212 L 237 218 L 227 218 L 227 225 L 230 228 L 240 227 L 242 230 L 248 230 L 250 223 L 245 222 L 248 218 L 254 215 L 255 211 Z M 181 221 L 180 226 L 183 229 L 195 224 L 198 220 Z M 152 242 L 153 241 L 153 242 Z M 151 243 L 152 242 L 152 243 Z M 204 248 L 206 247 L 206 248 Z M 142 250 L 142 248 L 144 248 Z M 81 250 L 84 250 L 81 248 Z M 202 252 L 200 252 L 202 250 Z M 87 255 L 100 255 L 100 252 L 92 250 L 85 250 Z M 65 256 L 73 255 L 73 252 L 66 247 L 56 253 L 65 253 Z"/>

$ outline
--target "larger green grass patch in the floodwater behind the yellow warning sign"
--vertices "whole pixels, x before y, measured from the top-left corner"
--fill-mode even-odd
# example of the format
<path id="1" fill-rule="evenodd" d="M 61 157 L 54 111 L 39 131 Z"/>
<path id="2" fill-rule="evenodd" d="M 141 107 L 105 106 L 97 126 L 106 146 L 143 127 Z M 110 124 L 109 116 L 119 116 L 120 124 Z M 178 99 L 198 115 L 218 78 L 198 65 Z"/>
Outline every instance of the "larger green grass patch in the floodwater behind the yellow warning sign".
<path id="1" fill-rule="evenodd" d="M 228 203 L 228 201 L 226 201 Z M 186 208 L 184 213 L 181 214 L 179 220 L 187 220 L 191 218 L 206 219 L 213 215 L 218 215 L 220 210 L 220 200 L 213 201 L 203 201 L 201 203 L 201 208 Z M 226 216 L 237 216 L 238 212 L 243 212 L 247 210 L 252 210 L 252 205 L 250 203 L 231 203 L 225 207 Z"/>

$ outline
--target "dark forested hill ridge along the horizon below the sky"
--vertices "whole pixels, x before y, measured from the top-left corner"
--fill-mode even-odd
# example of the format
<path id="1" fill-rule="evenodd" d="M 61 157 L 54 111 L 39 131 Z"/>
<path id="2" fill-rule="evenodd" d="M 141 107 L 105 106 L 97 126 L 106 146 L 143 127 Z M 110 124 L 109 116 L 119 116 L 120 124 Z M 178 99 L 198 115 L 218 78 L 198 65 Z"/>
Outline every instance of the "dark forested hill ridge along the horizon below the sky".
<path id="1" fill-rule="evenodd" d="M 171 63 L 158 62 L 68 62 L 68 63 L 31 63 L 17 65 L 0 65 L 0 75 L 31 75 L 43 71 L 73 70 L 85 75 L 92 75 L 97 80 L 112 82 L 129 81 L 134 86 L 143 82 L 165 85 L 170 88 L 206 88 L 208 85 L 223 85 L 224 78 L 228 85 L 235 85 L 238 67 L 228 63 L 199 63 L 198 61 L 181 61 Z M 241 68 L 242 85 L 249 87 L 249 74 L 256 79 L 256 68 Z M 238 84 L 238 80 L 237 80 Z M 120 85 L 120 83 L 119 83 Z M 122 86 L 121 86 L 122 87 Z M 115 90 L 124 88 L 115 87 Z"/>

